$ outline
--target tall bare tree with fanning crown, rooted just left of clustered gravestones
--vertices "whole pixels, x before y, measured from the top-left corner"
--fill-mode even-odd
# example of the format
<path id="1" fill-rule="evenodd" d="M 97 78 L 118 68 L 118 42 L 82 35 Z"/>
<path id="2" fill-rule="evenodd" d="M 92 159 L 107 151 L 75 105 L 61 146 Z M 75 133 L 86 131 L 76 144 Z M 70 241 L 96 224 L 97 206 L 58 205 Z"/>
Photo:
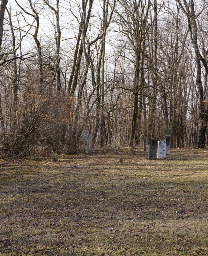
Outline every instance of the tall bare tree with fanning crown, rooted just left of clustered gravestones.
<path id="1" fill-rule="evenodd" d="M 132 81 L 131 88 L 125 88 L 133 93 L 133 114 L 131 119 L 131 131 L 129 146 L 134 145 L 138 115 L 138 95 L 141 91 L 141 56 L 142 42 L 147 33 L 146 21 L 149 15 L 151 1 L 119 1 L 116 13 L 119 17 L 120 32 L 127 37 L 134 52 L 133 62 L 135 68 L 135 79 Z"/>

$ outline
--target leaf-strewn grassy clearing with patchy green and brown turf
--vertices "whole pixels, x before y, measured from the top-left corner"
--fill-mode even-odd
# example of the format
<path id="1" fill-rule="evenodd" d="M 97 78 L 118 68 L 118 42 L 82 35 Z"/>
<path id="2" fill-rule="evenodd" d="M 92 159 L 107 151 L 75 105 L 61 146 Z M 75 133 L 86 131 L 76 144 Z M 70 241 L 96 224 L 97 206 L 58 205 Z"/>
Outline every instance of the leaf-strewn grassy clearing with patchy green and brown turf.
<path id="1" fill-rule="evenodd" d="M 147 155 L 2 161 L 0 255 L 208 255 L 208 150 Z"/>

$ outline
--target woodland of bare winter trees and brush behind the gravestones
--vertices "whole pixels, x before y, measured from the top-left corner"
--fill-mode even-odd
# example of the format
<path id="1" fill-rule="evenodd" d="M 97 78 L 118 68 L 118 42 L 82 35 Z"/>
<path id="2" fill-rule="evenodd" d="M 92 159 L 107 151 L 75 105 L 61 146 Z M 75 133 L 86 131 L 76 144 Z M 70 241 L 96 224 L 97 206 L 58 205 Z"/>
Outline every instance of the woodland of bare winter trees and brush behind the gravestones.
<path id="1" fill-rule="evenodd" d="M 205 0 L 1 0 L 0 154 L 206 148 Z"/>

